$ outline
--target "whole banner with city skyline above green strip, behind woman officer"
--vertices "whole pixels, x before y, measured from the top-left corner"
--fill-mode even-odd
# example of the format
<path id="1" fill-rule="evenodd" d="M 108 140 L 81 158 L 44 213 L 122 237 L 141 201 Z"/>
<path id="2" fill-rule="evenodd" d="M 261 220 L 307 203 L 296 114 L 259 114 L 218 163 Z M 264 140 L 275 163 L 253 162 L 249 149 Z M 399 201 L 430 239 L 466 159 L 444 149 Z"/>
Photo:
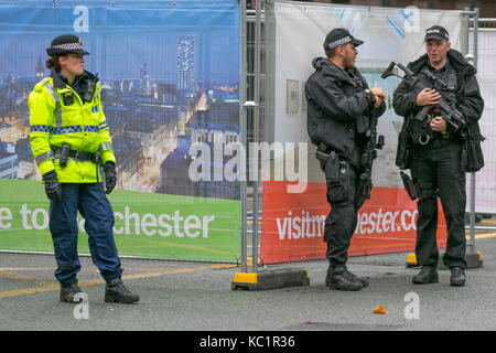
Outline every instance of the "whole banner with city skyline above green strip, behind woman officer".
<path id="1" fill-rule="evenodd" d="M 236 261 L 239 182 L 213 146 L 239 139 L 239 29 L 236 0 L 0 2 L 0 249 L 50 249 L 28 96 L 72 33 L 100 78 L 120 254 Z"/>

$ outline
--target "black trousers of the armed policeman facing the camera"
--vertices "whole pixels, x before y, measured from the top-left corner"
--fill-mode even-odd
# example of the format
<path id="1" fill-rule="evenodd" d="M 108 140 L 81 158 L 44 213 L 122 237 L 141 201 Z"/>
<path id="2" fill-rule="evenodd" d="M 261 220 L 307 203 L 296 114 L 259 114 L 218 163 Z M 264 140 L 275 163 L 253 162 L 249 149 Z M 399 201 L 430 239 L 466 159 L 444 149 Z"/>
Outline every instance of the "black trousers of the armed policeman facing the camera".
<path id="1" fill-rule="evenodd" d="M 436 266 L 438 195 L 446 221 L 448 238 L 443 264 L 446 268 L 466 268 L 465 261 L 465 173 L 461 171 L 462 145 L 453 140 L 433 140 L 417 146 L 411 153 L 411 173 L 419 190 L 417 203 L 417 263 Z"/>

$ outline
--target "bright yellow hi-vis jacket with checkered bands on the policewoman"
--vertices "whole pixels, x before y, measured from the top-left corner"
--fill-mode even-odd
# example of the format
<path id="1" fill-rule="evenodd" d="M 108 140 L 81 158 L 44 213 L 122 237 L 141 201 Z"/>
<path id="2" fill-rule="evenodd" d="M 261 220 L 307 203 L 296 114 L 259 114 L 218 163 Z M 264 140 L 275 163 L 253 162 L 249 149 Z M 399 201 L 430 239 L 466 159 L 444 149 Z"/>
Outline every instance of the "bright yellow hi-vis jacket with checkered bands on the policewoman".
<path id="1" fill-rule="evenodd" d="M 99 152 L 101 163 L 116 162 L 109 128 L 101 109 L 99 83 L 96 84 L 91 101 L 85 103 L 52 72 L 30 93 L 29 107 L 30 142 L 40 173 L 43 175 L 55 170 L 61 183 L 101 181 L 99 169 L 94 162 L 68 158 L 66 167 L 61 168 L 53 151 L 53 148 L 68 143 L 71 150 Z"/>

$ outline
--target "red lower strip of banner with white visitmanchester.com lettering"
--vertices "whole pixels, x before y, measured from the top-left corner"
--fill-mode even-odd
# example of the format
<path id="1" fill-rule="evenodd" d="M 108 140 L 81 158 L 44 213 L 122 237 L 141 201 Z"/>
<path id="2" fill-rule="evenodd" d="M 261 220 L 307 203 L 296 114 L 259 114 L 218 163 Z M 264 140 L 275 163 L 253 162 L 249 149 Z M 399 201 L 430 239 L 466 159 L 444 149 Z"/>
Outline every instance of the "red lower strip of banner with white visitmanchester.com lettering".
<path id="1" fill-rule="evenodd" d="M 288 182 L 263 182 L 260 260 L 265 264 L 325 258 L 325 220 L 331 212 L 324 183 L 287 193 Z M 405 190 L 375 188 L 358 212 L 348 255 L 411 252 L 416 246 L 417 203 Z M 446 224 L 439 207 L 438 246 L 446 244 Z"/>

